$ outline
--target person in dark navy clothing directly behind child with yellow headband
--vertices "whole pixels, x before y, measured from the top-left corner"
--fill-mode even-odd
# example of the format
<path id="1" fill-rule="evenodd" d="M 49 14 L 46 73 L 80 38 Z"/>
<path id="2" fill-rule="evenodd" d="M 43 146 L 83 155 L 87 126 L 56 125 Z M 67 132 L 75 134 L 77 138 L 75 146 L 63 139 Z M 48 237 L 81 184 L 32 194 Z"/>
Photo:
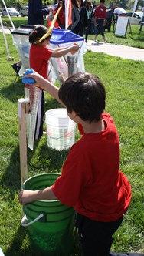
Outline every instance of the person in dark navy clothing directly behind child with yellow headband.
<path id="1" fill-rule="evenodd" d="M 28 25 L 44 25 L 44 15 L 49 14 L 52 8 L 43 8 L 42 0 L 28 1 Z"/>

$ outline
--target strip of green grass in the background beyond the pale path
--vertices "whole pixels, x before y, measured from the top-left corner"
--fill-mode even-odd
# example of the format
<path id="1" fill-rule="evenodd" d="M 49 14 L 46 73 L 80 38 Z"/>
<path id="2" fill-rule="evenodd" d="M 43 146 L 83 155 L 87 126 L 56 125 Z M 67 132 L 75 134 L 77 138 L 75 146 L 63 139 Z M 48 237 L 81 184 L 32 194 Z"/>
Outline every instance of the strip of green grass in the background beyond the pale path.
<path id="1" fill-rule="evenodd" d="M 8 18 L 2 18 L 3 23 L 7 22 L 9 26 L 11 23 Z M 19 25 L 27 25 L 27 18 L 21 17 L 12 17 L 12 21 L 15 25 L 15 28 L 18 28 Z M 45 19 L 45 25 L 47 26 L 47 20 Z M 131 25 L 132 34 L 129 29 L 126 32 L 126 37 L 115 36 L 113 31 L 113 25 L 111 27 L 111 32 L 105 32 L 105 36 L 108 42 L 117 44 L 117 45 L 128 45 L 133 47 L 138 47 L 144 49 L 144 32 L 142 29 L 141 35 L 139 35 L 139 25 Z M 99 35 L 98 39 L 101 40 L 101 35 Z M 88 39 L 93 39 L 93 35 L 89 35 Z"/>

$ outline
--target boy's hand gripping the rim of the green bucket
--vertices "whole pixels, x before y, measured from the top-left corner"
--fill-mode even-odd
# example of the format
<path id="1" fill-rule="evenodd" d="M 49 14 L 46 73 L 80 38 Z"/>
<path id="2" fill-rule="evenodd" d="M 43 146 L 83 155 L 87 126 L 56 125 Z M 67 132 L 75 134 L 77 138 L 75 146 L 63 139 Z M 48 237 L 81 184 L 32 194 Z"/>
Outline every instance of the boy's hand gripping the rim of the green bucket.
<path id="1" fill-rule="evenodd" d="M 35 200 L 34 196 L 37 194 L 37 191 L 33 190 L 22 190 L 18 194 L 18 200 L 21 204 L 28 204 Z"/>

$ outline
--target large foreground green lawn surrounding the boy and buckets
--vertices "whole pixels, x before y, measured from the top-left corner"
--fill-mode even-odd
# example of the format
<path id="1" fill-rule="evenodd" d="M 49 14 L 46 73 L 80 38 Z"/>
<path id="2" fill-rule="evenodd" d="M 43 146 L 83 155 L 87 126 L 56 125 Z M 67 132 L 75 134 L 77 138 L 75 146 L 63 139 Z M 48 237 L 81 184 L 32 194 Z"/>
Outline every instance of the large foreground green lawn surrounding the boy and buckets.
<path id="1" fill-rule="evenodd" d="M 18 60 L 11 35 L 6 37 L 11 56 Z M 21 190 L 18 99 L 24 97 L 24 86 L 21 78 L 14 82 L 15 72 L 11 69 L 11 61 L 7 60 L 2 33 L 0 45 L 0 246 L 5 256 L 38 256 L 38 252 L 30 248 L 27 229 L 21 227 L 23 213 L 18 203 L 18 191 Z M 113 237 L 113 251 L 144 253 L 144 62 L 96 52 L 87 52 L 84 60 L 87 72 L 97 74 L 106 86 L 106 111 L 113 116 L 120 137 L 120 167 L 133 189 L 133 200 L 123 225 Z M 46 93 L 45 110 L 58 106 Z M 34 143 L 33 151 L 28 149 L 28 177 L 38 173 L 60 173 L 67 153 L 68 150 L 58 152 L 48 148 L 47 138 L 43 136 Z M 78 241 L 74 255 L 80 256 Z"/>

